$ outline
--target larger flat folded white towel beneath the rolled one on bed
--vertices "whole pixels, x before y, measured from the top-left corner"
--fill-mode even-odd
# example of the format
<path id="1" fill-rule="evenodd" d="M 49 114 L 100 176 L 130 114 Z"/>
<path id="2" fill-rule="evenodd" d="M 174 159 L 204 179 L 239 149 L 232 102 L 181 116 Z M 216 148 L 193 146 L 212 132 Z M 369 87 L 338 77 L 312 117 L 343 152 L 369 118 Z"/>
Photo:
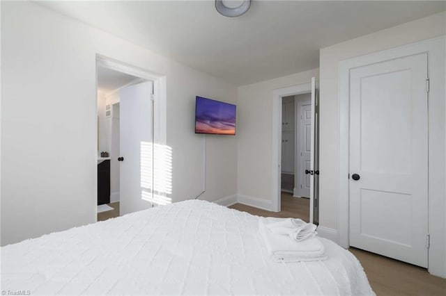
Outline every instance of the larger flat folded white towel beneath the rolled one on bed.
<path id="1" fill-rule="evenodd" d="M 308 238 L 296 242 L 289 236 L 272 233 L 266 225 L 268 225 L 266 220 L 259 220 L 259 232 L 273 260 L 277 262 L 299 262 L 321 261 L 328 258 L 325 256 L 325 249 L 318 238 Z"/>

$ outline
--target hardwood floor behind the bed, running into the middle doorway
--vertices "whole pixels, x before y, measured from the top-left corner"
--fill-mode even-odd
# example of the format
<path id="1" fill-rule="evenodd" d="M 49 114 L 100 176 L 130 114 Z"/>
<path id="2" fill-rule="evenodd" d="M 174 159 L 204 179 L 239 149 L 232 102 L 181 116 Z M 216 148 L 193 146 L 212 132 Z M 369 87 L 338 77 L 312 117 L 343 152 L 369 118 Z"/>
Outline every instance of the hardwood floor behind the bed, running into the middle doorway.
<path id="1" fill-rule="evenodd" d="M 260 208 L 246 206 L 245 204 L 233 204 L 229 208 L 235 208 L 238 211 L 250 213 L 262 217 L 279 218 L 300 218 L 306 222 L 309 221 L 309 199 L 305 197 L 293 197 L 291 193 L 282 192 L 281 194 L 282 211 L 279 213 L 265 211 Z"/>

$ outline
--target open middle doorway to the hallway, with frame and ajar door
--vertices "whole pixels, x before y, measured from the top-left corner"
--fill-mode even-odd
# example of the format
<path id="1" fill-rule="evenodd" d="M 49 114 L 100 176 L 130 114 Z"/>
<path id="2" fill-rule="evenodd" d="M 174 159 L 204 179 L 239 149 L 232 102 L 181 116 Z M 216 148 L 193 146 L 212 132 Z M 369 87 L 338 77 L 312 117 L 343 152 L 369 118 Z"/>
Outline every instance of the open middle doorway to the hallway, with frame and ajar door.
<path id="1" fill-rule="evenodd" d="M 275 90 L 272 99 L 275 211 L 318 224 L 316 81 Z"/>

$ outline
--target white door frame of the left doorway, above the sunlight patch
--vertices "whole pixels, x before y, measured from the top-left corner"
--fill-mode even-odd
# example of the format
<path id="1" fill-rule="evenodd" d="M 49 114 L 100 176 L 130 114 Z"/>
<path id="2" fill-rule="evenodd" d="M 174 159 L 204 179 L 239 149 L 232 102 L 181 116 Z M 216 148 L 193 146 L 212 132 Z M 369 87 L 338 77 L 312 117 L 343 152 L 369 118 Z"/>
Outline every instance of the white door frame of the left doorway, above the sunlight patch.
<path id="1" fill-rule="evenodd" d="M 124 74 L 129 74 L 132 76 L 139 77 L 148 81 L 153 81 L 153 119 L 154 129 L 153 129 L 153 142 L 160 145 L 167 144 L 167 79 L 166 76 L 157 74 L 155 72 L 148 71 L 146 69 L 141 69 L 133 65 L 128 65 L 126 63 L 115 60 L 114 58 L 109 58 L 107 56 L 102 56 L 96 54 L 95 59 L 95 69 L 96 69 L 96 96 L 95 100 L 98 101 L 98 67 L 104 67 L 107 69 L 112 69 L 117 72 Z M 95 104 L 97 106 L 97 104 Z M 95 113 L 96 118 L 98 117 L 98 108 L 96 108 Z M 96 126 L 95 130 L 98 131 L 98 120 L 95 120 Z M 98 135 L 95 138 L 95 158 L 98 157 Z M 97 161 L 96 161 L 97 163 Z M 98 176 L 97 170 L 95 169 L 95 181 L 94 181 L 94 196 L 95 196 L 95 220 L 98 220 L 98 213 L 96 205 L 98 204 Z"/>

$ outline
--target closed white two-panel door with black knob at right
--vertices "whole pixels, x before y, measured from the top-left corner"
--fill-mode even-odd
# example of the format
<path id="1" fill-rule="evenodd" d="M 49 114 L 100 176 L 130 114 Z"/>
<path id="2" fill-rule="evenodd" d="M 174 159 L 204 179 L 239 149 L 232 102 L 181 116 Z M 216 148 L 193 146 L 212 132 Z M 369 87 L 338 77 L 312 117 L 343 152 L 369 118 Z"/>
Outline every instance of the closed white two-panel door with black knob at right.
<path id="1" fill-rule="evenodd" d="M 350 245 L 422 267 L 428 254 L 426 79 L 426 54 L 350 72 Z"/>

